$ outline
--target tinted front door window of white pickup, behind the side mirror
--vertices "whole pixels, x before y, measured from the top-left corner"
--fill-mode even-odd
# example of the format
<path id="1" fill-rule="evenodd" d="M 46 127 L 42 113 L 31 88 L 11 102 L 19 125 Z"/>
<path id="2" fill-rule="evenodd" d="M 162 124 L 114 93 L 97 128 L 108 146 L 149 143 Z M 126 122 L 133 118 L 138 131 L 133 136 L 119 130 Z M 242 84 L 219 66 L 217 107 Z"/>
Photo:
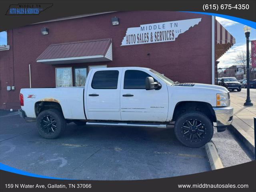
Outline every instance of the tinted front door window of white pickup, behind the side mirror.
<path id="1" fill-rule="evenodd" d="M 146 77 L 148 73 L 140 70 L 126 70 L 124 74 L 124 89 L 146 89 Z M 154 81 L 156 81 L 154 79 Z"/>

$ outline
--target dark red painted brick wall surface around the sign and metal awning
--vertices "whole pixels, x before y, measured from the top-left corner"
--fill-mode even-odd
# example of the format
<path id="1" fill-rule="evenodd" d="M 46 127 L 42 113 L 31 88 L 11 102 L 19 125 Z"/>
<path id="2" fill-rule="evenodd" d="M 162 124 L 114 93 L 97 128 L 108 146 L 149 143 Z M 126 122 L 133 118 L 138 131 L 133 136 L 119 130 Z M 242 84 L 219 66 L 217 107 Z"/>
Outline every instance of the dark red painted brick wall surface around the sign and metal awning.
<path id="1" fill-rule="evenodd" d="M 112 26 L 111 18 L 114 16 L 118 16 L 120 25 Z M 173 42 L 120 46 L 127 28 L 191 18 L 202 18 L 202 21 L 180 34 Z M 41 34 L 40 29 L 43 27 L 49 29 L 48 35 Z M 36 63 L 36 58 L 50 44 L 102 38 L 112 38 L 111 62 L 70 65 Z M 201 14 L 159 11 L 114 12 L 34 24 L 8 30 L 8 44 L 10 50 L 0 51 L 0 108 L 19 108 L 20 88 L 29 87 L 29 64 L 32 88 L 54 87 L 55 67 L 102 64 L 108 67 L 149 67 L 174 81 L 211 84 L 211 16 Z M 147 55 L 148 53 L 150 55 Z M 14 85 L 16 90 L 6 91 L 7 85 Z"/>

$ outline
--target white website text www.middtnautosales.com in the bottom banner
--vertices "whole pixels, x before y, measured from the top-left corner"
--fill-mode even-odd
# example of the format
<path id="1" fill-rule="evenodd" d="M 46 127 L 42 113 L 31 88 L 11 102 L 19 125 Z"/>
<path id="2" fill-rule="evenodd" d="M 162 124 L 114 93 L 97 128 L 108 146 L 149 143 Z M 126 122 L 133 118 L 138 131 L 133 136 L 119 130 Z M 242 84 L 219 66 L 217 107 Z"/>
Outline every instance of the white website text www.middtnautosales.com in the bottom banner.
<path id="1" fill-rule="evenodd" d="M 248 184 L 178 184 L 178 188 L 249 188 Z"/>

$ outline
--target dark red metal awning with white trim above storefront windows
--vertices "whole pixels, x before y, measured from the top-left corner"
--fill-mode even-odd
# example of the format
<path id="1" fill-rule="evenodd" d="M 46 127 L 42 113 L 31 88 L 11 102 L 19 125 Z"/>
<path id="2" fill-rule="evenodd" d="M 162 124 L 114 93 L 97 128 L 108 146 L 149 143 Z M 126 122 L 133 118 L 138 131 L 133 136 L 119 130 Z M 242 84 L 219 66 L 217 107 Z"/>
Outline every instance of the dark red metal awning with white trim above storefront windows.
<path id="1" fill-rule="evenodd" d="M 99 61 L 112 61 L 111 39 L 53 44 L 36 59 L 36 62 L 46 64 Z"/>

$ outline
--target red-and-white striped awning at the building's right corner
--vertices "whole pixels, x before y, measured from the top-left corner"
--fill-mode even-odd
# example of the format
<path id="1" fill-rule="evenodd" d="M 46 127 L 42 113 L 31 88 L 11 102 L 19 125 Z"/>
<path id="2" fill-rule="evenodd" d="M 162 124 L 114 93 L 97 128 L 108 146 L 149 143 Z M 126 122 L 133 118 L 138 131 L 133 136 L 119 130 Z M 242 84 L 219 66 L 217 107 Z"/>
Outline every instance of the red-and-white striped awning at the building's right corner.
<path id="1" fill-rule="evenodd" d="M 215 20 L 215 60 L 218 60 L 234 44 L 236 39 Z"/>

